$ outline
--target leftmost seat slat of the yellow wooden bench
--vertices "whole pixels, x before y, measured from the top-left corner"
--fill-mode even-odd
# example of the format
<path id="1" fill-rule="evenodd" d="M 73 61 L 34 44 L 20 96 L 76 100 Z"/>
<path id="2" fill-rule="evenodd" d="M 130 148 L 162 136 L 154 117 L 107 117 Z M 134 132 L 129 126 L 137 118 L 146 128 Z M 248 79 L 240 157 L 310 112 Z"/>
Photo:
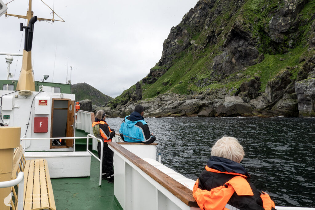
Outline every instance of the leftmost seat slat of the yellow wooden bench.
<path id="1" fill-rule="evenodd" d="M 28 161 L 26 162 L 27 165 Z M 32 209 L 32 197 L 33 197 L 33 179 L 34 179 L 34 160 L 31 160 L 29 162 L 29 167 L 25 170 L 28 170 L 28 174 L 26 179 L 24 179 L 24 193 L 25 193 L 25 199 L 24 199 L 24 209 Z"/>

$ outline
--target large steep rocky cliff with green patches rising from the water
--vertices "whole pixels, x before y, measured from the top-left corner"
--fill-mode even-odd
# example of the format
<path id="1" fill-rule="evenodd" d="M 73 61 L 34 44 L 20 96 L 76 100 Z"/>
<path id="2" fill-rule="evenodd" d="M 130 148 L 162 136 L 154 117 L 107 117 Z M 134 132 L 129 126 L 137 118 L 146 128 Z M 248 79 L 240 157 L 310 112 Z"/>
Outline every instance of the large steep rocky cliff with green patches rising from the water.
<path id="1" fill-rule="evenodd" d="M 136 103 L 147 116 L 314 116 L 314 11 L 315 0 L 199 0 L 156 66 L 108 106 L 113 116 Z"/>

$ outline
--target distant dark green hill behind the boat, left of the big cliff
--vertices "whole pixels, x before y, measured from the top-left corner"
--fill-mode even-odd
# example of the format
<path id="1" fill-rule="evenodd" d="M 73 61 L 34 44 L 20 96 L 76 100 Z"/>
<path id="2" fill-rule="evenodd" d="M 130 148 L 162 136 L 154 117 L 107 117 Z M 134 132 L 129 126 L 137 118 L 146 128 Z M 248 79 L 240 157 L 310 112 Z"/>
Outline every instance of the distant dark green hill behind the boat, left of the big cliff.
<path id="1" fill-rule="evenodd" d="M 113 99 L 85 82 L 71 85 L 71 90 L 72 94 L 76 94 L 76 101 L 89 99 L 96 106 L 107 104 Z"/>

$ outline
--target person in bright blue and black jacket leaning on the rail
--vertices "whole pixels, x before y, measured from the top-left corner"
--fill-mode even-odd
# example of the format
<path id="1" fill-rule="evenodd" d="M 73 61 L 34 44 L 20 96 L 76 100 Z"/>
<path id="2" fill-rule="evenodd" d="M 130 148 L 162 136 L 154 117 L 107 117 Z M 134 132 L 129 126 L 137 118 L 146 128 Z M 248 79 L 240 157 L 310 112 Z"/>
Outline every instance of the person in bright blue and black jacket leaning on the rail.
<path id="1" fill-rule="evenodd" d="M 135 106 L 135 111 L 126 116 L 119 128 L 119 134 L 125 142 L 137 142 L 151 144 L 155 136 L 150 133 L 148 124 L 143 118 L 144 107 L 140 104 Z"/>

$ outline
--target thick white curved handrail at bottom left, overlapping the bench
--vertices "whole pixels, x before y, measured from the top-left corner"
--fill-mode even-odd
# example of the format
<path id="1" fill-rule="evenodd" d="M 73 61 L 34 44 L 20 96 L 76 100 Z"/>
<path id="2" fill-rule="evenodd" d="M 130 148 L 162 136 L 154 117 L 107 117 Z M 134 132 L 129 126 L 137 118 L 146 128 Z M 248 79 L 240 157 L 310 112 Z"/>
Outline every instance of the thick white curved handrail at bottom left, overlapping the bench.
<path id="1" fill-rule="evenodd" d="M 18 184 L 20 184 L 20 186 L 19 186 L 19 191 L 18 191 L 17 209 L 22 210 L 23 209 L 22 204 L 24 203 L 24 200 L 23 200 L 23 197 L 24 197 L 24 172 L 19 172 L 16 179 L 13 179 L 10 181 L 0 182 L 0 188 L 13 187 L 13 186 L 18 185 Z M 11 193 L 11 191 L 10 191 L 10 193 Z"/>

